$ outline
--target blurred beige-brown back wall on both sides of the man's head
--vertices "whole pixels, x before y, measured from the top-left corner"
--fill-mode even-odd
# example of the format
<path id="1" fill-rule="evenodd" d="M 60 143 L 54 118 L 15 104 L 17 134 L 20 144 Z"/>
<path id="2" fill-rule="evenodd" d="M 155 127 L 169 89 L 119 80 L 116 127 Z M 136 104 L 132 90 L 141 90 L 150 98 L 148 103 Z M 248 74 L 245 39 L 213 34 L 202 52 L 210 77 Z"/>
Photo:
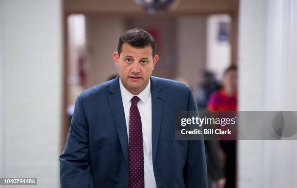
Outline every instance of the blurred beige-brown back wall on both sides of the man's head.
<path id="1" fill-rule="evenodd" d="M 193 88 L 196 87 L 206 64 L 205 16 L 124 19 L 87 15 L 88 87 L 117 73 L 112 52 L 117 50 L 118 37 L 134 27 L 159 31 L 157 53 L 160 60 L 153 75 L 169 79 L 183 77 Z"/>

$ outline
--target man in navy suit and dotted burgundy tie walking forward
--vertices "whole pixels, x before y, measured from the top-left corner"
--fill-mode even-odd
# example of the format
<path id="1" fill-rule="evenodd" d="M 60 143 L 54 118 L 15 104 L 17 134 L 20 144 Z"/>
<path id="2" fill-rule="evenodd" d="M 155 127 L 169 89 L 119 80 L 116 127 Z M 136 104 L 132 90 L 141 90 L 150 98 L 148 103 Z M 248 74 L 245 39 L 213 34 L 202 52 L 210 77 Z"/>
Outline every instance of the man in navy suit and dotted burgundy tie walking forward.
<path id="1" fill-rule="evenodd" d="M 60 156 L 62 188 L 206 188 L 203 140 L 175 140 L 174 113 L 197 110 L 189 87 L 151 76 L 153 37 L 125 32 L 119 76 L 82 92 Z"/>

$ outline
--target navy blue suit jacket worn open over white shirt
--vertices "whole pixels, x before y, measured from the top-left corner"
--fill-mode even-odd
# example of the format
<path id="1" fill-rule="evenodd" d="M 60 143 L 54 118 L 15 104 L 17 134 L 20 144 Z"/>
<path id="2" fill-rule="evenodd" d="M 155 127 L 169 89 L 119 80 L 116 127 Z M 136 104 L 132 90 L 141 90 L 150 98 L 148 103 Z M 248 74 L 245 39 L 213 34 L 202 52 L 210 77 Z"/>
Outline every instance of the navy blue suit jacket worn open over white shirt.
<path id="1" fill-rule="evenodd" d="M 203 140 L 175 140 L 175 112 L 197 110 L 190 88 L 150 77 L 152 160 L 158 188 L 207 188 Z M 62 188 L 128 188 L 129 150 L 119 77 L 76 100 L 65 150 Z"/>

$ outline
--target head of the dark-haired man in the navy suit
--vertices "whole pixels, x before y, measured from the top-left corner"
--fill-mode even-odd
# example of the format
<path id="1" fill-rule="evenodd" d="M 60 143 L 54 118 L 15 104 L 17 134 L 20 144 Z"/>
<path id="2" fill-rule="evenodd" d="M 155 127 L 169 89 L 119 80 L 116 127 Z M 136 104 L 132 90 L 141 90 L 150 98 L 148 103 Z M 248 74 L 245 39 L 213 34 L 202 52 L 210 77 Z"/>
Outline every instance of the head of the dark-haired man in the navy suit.
<path id="1" fill-rule="evenodd" d="M 124 87 L 138 95 L 147 85 L 158 55 L 156 43 L 148 32 L 132 29 L 120 36 L 117 52 L 113 53 L 115 67 Z"/>

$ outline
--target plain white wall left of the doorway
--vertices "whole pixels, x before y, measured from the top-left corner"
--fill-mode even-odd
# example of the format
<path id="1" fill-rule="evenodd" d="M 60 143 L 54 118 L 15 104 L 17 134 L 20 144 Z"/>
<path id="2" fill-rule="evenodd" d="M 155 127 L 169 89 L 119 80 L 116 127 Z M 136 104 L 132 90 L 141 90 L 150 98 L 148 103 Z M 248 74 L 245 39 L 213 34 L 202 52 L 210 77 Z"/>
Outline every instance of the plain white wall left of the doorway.
<path id="1" fill-rule="evenodd" d="M 1 177 L 37 177 L 38 188 L 57 188 L 61 1 L 0 3 Z"/>

